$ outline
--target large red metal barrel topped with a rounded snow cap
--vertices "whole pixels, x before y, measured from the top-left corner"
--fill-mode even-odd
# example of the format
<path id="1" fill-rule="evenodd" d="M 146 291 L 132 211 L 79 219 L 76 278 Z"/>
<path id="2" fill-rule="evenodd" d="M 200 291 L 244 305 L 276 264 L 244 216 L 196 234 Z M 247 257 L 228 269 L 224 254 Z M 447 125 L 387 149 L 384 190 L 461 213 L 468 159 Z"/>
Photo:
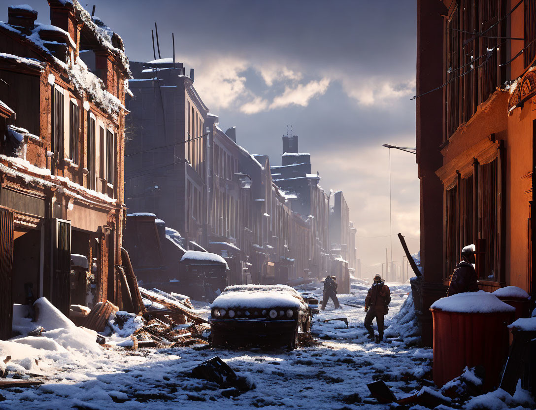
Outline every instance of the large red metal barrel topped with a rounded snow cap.
<path id="1" fill-rule="evenodd" d="M 460 293 L 431 305 L 434 321 L 434 383 L 441 387 L 464 368 L 483 366 L 483 387 L 498 386 L 508 357 L 515 308 L 489 292 Z"/>

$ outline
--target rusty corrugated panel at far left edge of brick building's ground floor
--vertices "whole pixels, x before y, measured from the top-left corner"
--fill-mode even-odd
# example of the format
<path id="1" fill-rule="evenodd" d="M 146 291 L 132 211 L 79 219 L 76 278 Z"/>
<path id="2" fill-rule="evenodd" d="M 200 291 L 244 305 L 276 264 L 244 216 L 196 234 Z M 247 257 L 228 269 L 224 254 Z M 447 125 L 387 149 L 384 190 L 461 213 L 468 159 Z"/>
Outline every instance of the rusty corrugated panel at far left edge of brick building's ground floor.
<path id="1" fill-rule="evenodd" d="M 3 190 L 2 190 L 3 191 Z M 11 337 L 13 300 L 11 266 L 13 263 L 13 212 L 0 208 L 0 339 Z"/>

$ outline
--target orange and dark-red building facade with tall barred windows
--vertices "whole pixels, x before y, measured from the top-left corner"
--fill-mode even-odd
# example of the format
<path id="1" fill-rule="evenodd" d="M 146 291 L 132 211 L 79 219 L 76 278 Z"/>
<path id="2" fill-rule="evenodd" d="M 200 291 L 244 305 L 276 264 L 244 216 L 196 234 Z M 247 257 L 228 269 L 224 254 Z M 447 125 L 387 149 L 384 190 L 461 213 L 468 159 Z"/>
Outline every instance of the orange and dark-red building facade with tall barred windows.
<path id="1" fill-rule="evenodd" d="M 419 1 L 417 17 L 419 310 L 431 343 L 429 305 L 467 244 L 482 289 L 536 292 L 536 2 Z"/>

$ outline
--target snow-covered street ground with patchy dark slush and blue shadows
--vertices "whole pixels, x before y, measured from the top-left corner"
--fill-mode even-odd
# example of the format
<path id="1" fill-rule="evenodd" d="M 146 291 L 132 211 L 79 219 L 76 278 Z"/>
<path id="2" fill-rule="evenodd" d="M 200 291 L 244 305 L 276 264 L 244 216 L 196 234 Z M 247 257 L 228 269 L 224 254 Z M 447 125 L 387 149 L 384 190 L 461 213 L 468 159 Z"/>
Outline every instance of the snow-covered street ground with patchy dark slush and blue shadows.
<path id="1" fill-rule="evenodd" d="M 310 292 L 319 296 L 317 286 Z M 392 302 L 387 325 L 410 292 L 409 285 L 390 287 Z M 29 367 L 21 363 L 31 370 L 21 370 L 26 374 L 46 375 L 43 377 L 47 383 L 36 388 L 2 391 L 0 394 L 6 400 L 0 402 L 0 408 L 106 409 L 116 406 L 130 409 L 147 408 L 148 402 L 152 409 L 174 408 L 177 403 L 189 402 L 189 408 L 199 409 L 214 405 L 220 408 L 354 408 L 375 402 L 367 398 L 370 393 L 366 384 L 377 379 L 386 381 L 397 397 L 415 393 L 423 383 L 429 384 L 423 377 L 431 369 L 431 349 L 407 347 L 394 337 L 392 329 L 386 331 L 386 337 L 392 338 L 389 343 L 370 342 L 363 327 L 367 289 L 366 285 L 353 284 L 352 294 L 339 295 L 342 310 L 333 310 L 330 302 L 326 311 L 315 316 L 313 332 L 318 344 L 291 352 L 256 348 L 243 351 L 170 348 L 131 352 L 114 348 L 102 354 L 91 354 L 69 347 L 50 352 L 21 345 L 20 357 L 14 355 L 8 363 L 11 369 L 18 366 L 18 362 L 27 362 L 29 357 L 32 360 L 38 357 L 37 363 Z M 322 322 L 333 317 L 346 317 L 348 329 L 340 320 Z M 4 345 L 0 345 L 0 352 L 8 342 L 1 343 Z M 192 377 L 193 367 L 216 355 L 236 372 L 247 374 L 256 388 L 240 394 L 235 389 L 222 390 L 216 384 Z"/>

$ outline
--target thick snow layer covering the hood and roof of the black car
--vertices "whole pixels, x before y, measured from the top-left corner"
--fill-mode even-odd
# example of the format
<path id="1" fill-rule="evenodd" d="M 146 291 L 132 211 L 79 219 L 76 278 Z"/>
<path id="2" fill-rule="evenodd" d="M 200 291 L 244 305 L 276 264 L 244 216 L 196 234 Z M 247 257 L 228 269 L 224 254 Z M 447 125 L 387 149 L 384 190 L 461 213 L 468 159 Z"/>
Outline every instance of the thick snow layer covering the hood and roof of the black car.
<path id="1" fill-rule="evenodd" d="M 229 309 L 271 309 L 306 307 L 303 298 L 294 288 L 286 285 L 234 285 L 227 286 L 212 307 Z"/>

